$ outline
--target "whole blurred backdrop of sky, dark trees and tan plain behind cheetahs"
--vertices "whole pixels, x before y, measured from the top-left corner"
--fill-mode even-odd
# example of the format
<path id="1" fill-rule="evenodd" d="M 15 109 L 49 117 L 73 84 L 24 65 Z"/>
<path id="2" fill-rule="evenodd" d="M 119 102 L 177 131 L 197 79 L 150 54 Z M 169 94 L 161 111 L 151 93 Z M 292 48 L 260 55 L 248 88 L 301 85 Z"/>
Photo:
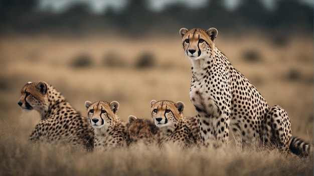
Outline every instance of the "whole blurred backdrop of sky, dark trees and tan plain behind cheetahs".
<path id="1" fill-rule="evenodd" d="M 39 80 L 83 115 L 85 100 L 117 100 L 123 120 L 150 118 L 151 99 L 195 115 L 181 27 L 216 27 L 216 46 L 312 141 L 312 0 L 0 0 L 1 131 L 31 133 L 40 116 L 17 102 Z"/>

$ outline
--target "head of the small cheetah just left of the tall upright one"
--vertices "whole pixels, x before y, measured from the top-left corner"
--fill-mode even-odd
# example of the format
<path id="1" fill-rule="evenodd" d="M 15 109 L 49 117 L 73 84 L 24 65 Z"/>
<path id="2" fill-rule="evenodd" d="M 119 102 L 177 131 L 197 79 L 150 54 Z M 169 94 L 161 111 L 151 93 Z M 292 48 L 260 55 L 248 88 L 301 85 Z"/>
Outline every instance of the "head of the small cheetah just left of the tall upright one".
<path id="1" fill-rule="evenodd" d="M 176 128 L 179 119 L 183 116 L 184 103 L 168 100 L 151 100 L 151 116 L 156 126 Z"/>

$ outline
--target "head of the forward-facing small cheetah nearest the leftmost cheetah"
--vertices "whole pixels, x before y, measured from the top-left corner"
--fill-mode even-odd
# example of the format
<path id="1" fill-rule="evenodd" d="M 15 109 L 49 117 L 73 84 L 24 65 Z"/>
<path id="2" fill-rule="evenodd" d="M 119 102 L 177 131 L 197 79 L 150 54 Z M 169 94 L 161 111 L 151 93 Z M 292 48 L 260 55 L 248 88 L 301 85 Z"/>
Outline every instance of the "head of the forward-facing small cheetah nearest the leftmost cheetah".
<path id="1" fill-rule="evenodd" d="M 85 101 L 85 107 L 89 122 L 94 128 L 108 128 L 114 125 L 119 103 L 117 101 L 110 103 L 106 101 L 96 101 L 94 103 Z"/>

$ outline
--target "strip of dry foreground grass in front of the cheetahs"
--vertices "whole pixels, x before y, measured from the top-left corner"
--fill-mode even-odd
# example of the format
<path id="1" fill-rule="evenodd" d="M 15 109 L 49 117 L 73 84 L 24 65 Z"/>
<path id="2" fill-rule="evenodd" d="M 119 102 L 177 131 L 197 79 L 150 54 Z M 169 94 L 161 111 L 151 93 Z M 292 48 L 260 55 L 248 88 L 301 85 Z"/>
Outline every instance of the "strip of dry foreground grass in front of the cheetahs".
<path id="1" fill-rule="evenodd" d="M 1 134 L 0 175 L 312 175 L 312 155 L 231 147 L 134 145 L 106 151 L 30 144 Z"/>

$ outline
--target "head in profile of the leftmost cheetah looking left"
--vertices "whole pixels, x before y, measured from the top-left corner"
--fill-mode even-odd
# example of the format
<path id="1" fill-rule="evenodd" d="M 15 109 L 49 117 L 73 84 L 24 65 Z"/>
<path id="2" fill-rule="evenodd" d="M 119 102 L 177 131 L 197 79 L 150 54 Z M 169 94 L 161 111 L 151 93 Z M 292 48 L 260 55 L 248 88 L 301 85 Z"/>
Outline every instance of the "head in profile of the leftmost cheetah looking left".
<path id="1" fill-rule="evenodd" d="M 18 104 L 24 110 L 37 110 L 39 113 L 45 113 L 49 108 L 47 87 L 49 84 L 45 81 L 28 82 L 21 89 L 22 96 Z"/>

